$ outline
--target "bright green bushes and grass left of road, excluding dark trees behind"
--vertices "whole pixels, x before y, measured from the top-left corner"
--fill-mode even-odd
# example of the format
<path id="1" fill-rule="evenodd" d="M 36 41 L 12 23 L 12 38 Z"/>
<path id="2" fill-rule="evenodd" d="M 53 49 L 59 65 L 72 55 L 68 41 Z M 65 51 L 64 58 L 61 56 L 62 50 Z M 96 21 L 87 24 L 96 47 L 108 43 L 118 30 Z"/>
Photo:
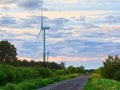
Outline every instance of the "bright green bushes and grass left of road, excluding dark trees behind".
<path id="1" fill-rule="evenodd" d="M 71 68 L 75 69 L 71 72 Z M 0 65 L 0 86 L 3 90 L 31 90 L 82 75 L 83 67 L 49 69 L 45 67 L 15 67 Z"/>

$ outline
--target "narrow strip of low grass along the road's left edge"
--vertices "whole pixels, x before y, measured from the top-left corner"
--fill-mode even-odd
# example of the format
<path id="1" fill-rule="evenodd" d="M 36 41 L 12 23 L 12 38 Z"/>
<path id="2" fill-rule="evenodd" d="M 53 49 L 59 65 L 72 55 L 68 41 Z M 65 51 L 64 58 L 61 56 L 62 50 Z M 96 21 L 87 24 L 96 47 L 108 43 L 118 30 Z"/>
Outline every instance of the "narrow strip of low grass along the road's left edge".
<path id="1" fill-rule="evenodd" d="M 79 74 L 70 74 L 70 75 L 62 75 L 51 78 L 37 78 L 32 80 L 26 80 L 20 83 L 8 83 L 5 85 L 5 90 L 35 90 L 37 88 L 52 84 L 54 82 L 59 82 L 62 80 L 71 79 L 79 76 Z"/>

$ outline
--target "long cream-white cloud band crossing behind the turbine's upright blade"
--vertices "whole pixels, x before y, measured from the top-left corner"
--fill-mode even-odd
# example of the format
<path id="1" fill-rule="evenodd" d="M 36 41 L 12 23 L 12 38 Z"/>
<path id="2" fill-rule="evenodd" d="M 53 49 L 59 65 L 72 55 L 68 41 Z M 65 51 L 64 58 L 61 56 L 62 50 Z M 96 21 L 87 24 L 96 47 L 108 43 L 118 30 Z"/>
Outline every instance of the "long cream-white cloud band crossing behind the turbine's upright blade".
<path id="1" fill-rule="evenodd" d="M 99 17 L 102 15 L 108 15 L 113 13 L 114 11 L 45 11 L 43 12 L 43 15 L 50 18 L 50 19 L 55 19 L 55 18 L 67 18 L 70 19 L 72 17 L 74 18 L 80 18 L 80 17 L 89 17 L 89 18 L 95 18 Z M 119 12 L 119 11 L 116 11 Z M 7 11 L 4 15 L 12 16 L 12 17 L 17 17 L 17 18 L 29 18 L 32 16 L 40 16 L 40 12 L 9 12 Z"/>

